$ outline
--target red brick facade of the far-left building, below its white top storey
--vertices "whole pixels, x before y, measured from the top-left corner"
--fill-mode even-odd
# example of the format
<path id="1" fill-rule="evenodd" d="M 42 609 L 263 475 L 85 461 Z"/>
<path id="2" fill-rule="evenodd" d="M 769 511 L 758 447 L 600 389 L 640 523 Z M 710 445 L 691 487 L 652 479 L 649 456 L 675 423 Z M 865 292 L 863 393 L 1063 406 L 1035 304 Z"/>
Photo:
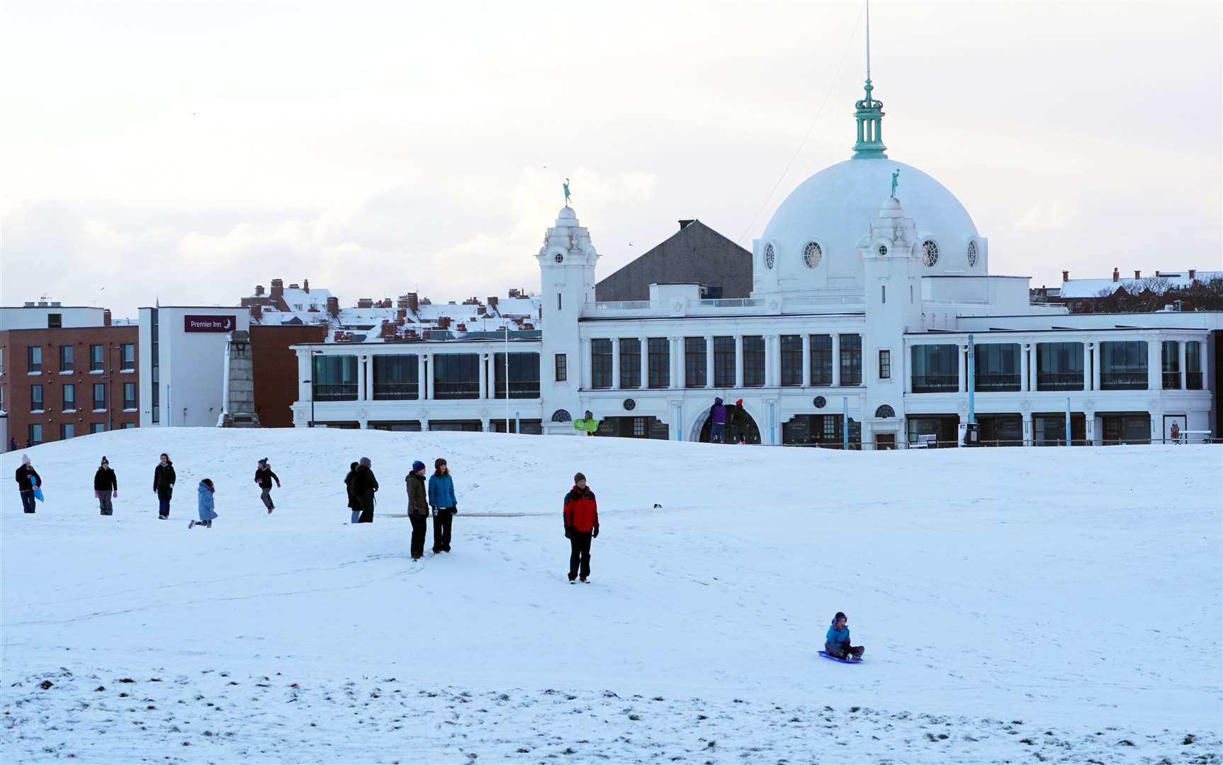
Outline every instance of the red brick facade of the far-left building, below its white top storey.
<path id="1" fill-rule="evenodd" d="M 139 425 L 139 330 L 135 324 L 72 329 L 28 329 L 0 331 L 0 396 L 7 412 L 9 437 L 24 447 L 42 426 L 46 444 L 64 437 L 87 435 L 94 428 L 117 430 Z M 122 362 L 130 345 L 130 363 Z M 94 361 L 94 346 L 102 347 L 100 363 Z M 32 372 L 31 347 L 40 348 L 42 369 Z M 71 347 L 71 370 L 61 370 L 64 347 Z M 67 365 L 67 364 L 64 364 Z M 91 369 L 97 368 L 97 369 Z M 124 385 L 132 384 L 135 403 L 125 409 Z M 42 386 L 42 411 L 34 411 L 34 386 Z M 65 386 L 71 385 L 75 407 L 65 406 Z M 103 385 L 104 401 L 94 406 L 94 385 Z M 131 402 L 130 402 L 131 403 Z M 65 411 L 75 408 L 75 411 Z M 128 424 L 130 423 L 130 424 Z M 71 430 L 68 430 L 70 426 Z M 2 445 L 4 448 L 9 444 Z"/>

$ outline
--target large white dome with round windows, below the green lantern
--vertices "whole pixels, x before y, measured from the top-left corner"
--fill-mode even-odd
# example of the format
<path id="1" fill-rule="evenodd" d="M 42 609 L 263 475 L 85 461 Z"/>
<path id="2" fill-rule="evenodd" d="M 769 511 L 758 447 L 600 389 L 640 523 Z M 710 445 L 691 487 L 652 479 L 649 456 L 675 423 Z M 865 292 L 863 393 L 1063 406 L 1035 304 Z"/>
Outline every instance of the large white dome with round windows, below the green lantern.
<path id="1" fill-rule="evenodd" d="M 917 225 L 920 240 L 931 240 L 938 260 L 925 274 L 985 274 L 983 246 L 972 219 L 951 192 L 921 170 L 890 159 L 849 159 L 821 170 L 786 197 L 764 235 L 756 242 L 758 291 L 861 288 L 859 241 L 892 193 L 892 174 L 900 170 L 896 198 Z M 810 242 L 818 264 L 804 258 Z M 975 265 L 969 265 L 970 242 Z M 773 268 L 766 251 L 773 247 Z M 808 254 L 815 254 L 812 251 Z"/>

